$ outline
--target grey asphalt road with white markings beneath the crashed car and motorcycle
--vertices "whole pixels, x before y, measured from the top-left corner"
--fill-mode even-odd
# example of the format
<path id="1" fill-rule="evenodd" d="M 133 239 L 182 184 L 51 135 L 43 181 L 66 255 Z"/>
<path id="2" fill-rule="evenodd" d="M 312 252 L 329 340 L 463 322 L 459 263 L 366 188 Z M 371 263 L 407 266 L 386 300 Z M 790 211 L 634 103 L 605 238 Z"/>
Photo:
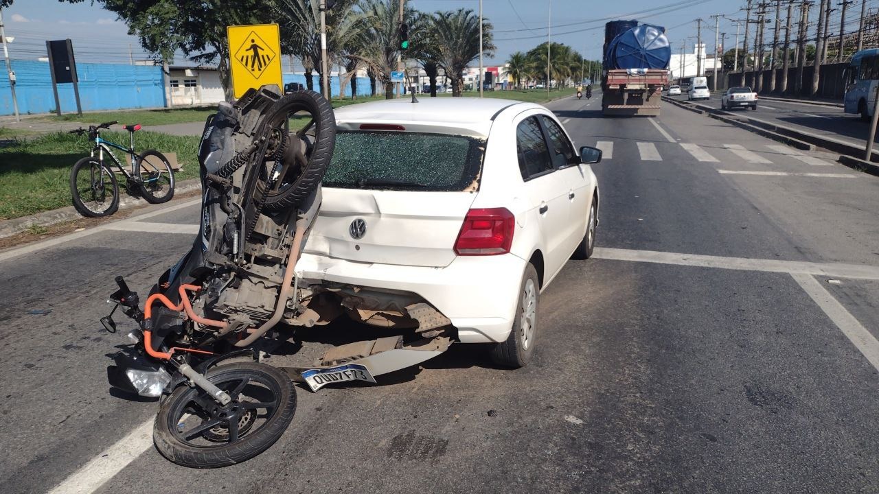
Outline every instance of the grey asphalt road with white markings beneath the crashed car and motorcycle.
<path id="1" fill-rule="evenodd" d="M 299 389 L 281 440 L 226 469 L 165 461 L 156 403 L 105 383 L 113 276 L 175 262 L 192 201 L 0 252 L 0 490 L 879 491 L 879 178 L 672 105 L 603 119 L 598 97 L 548 105 L 606 159 L 596 258 L 542 294 L 532 364 L 455 345 Z"/>

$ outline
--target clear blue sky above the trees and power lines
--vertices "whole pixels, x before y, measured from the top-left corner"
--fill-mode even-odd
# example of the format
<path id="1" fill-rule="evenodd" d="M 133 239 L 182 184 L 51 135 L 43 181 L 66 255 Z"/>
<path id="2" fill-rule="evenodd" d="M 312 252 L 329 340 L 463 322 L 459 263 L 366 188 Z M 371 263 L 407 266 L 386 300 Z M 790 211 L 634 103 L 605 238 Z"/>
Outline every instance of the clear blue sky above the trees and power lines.
<path id="1" fill-rule="evenodd" d="M 478 0 L 409 0 L 420 11 L 470 8 L 478 11 Z M 703 18 L 702 37 L 708 49 L 714 47 L 714 22 L 708 16 L 727 14 L 737 18 L 745 0 L 552 0 L 552 40 L 574 47 L 592 60 L 600 58 L 604 24 L 608 19 L 636 18 L 643 22 L 665 25 L 669 40 L 677 51 L 681 40 L 692 47 L 696 36 L 694 19 Z M 483 0 L 483 15 L 495 28 L 498 51 L 494 61 L 504 62 L 514 51 L 527 51 L 547 37 L 549 0 Z M 744 17 L 744 16 L 741 16 Z M 857 15 L 852 30 L 857 29 Z M 11 56 L 35 59 L 45 55 L 45 40 L 73 40 L 76 60 L 81 62 L 129 61 L 129 45 L 135 60 L 146 58 L 137 39 L 127 35 L 127 26 L 113 13 L 98 4 L 59 3 L 58 0 L 17 0 L 4 11 L 7 36 L 15 36 Z M 736 28 L 721 21 L 721 32 L 727 34 L 732 47 Z M 415 35 L 415 33 L 413 33 Z M 691 48 L 692 49 L 692 48 Z M 178 63 L 184 62 L 182 57 Z M 286 69 L 286 67 L 285 67 Z"/>

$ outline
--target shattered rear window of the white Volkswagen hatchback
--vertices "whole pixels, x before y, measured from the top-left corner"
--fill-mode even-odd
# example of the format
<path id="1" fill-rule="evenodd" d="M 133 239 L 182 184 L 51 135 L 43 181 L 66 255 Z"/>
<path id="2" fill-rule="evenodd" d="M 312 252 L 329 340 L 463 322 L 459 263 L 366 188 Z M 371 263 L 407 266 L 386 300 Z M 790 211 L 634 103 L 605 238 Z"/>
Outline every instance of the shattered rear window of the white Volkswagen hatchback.
<path id="1" fill-rule="evenodd" d="M 474 185 L 485 142 L 466 135 L 338 131 L 327 187 L 462 191 Z"/>

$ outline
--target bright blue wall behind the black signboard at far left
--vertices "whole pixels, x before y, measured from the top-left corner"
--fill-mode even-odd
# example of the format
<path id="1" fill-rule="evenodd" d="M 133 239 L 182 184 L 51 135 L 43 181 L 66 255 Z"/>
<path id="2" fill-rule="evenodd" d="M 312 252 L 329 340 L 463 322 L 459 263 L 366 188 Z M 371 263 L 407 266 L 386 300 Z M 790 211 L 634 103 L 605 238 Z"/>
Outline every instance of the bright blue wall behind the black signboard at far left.
<path id="1" fill-rule="evenodd" d="M 48 62 L 13 60 L 18 113 L 48 113 L 54 109 Z M 120 108 L 163 107 L 162 68 L 158 66 L 79 63 L 79 100 L 84 112 Z M 73 84 L 58 84 L 63 113 L 76 112 Z M 13 114 L 12 93 L 5 71 L 0 76 L 0 115 Z"/>

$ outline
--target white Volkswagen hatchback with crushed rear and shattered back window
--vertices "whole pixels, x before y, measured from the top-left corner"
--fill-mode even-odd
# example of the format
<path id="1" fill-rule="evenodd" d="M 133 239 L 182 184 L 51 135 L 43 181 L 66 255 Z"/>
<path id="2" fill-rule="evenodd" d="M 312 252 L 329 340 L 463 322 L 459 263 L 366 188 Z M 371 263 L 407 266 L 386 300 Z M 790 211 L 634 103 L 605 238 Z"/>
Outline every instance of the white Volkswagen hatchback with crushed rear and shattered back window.
<path id="1" fill-rule="evenodd" d="M 336 120 L 301 279 L 378 300 L 354 314 L 366 323 L 429 304 L 457 341 L 527 364 L 541 291 L 592 255 L 601 151 L 578 150 L 543 106 L 499 98 L 392 99 Z"/>

